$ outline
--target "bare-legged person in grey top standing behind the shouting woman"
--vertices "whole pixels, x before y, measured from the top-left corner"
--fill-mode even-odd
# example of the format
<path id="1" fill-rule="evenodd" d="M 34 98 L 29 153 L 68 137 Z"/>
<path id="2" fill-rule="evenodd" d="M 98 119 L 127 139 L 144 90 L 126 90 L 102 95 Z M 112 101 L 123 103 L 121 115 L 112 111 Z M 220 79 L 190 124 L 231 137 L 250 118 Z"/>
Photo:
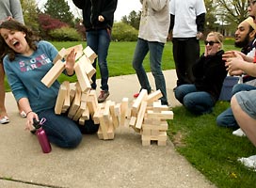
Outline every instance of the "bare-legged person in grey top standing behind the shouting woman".
<path id="1" fill-rule="evenodd" d="M 20 0 L 1 0 L 0 1 L 0 23 L 8 19 L 15 19 L 24 24 L 24 15 Z M 5 90 L 5 71 L 2 62 L 3 55 L 0 55 L 0 123 L 9 122 L 8 113 L 5 106 L 6 90 Z M 20 114 L 24 117 L 24 111 L 18 106 Z"/>

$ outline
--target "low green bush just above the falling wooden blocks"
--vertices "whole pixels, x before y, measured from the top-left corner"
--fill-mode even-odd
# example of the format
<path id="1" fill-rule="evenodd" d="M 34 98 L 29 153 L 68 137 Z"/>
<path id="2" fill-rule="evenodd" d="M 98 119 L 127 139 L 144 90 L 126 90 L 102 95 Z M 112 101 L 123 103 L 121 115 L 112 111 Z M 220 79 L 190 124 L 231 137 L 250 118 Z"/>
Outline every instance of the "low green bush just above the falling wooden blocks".
<path id="1" fill-rule="evenodd" d="M 82 39 L 74 28 L 68 26 L 51 30 L 49 36 L 55 41 L 79 41 Z"/>

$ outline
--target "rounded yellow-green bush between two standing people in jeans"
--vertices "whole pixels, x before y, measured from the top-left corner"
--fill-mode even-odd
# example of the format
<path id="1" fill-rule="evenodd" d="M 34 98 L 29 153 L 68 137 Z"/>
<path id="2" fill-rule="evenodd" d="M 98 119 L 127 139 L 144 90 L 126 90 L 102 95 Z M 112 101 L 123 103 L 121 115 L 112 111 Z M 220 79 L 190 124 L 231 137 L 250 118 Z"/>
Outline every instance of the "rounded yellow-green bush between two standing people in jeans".
<path id="1" fill-rule="evenodd" d="M 115 23 L 112 30 L 112 39 L 117 41 L 136 41 L 137 30 L 124 23 Z"/>

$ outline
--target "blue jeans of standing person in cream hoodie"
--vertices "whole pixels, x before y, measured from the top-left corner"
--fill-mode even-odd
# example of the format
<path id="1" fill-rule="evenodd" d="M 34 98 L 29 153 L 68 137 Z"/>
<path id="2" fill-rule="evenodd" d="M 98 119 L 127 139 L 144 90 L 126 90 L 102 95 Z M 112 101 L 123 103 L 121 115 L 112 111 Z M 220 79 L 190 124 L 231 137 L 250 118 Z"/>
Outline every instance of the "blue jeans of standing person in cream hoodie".
<path id="1" fill-rule="evenodd" d="M 161 68 L 162 55 L 164 51 L 164 43 L 156 41 L 147 41 L 145 39 L 137 39 L 136 51 L 133 60 L 133 68 L 136 71 L 141 89 L 147 89 L 151 93 L 152 87 L 149 83 L 147 73 L 142 65 L 145 56 L 150 52 L 150 65 L 156 90 L 160 89 L 163 97 L 160 99 L 162 104 L 168 105 L 166 80 Z"/>

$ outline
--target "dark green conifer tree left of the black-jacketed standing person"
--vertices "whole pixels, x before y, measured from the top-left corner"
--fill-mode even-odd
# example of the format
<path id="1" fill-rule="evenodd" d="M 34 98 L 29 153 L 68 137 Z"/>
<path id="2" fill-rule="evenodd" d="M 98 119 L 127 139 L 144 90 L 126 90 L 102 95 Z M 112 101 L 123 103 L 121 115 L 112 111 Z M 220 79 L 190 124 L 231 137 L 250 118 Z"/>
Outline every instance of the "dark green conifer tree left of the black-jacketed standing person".
<path id="1" fill-rule="evenodd" d="M 69 4 L 65 0 L 47 0 L 44 13 L 52 18 L 73 26 L 73 15 Z"/>

